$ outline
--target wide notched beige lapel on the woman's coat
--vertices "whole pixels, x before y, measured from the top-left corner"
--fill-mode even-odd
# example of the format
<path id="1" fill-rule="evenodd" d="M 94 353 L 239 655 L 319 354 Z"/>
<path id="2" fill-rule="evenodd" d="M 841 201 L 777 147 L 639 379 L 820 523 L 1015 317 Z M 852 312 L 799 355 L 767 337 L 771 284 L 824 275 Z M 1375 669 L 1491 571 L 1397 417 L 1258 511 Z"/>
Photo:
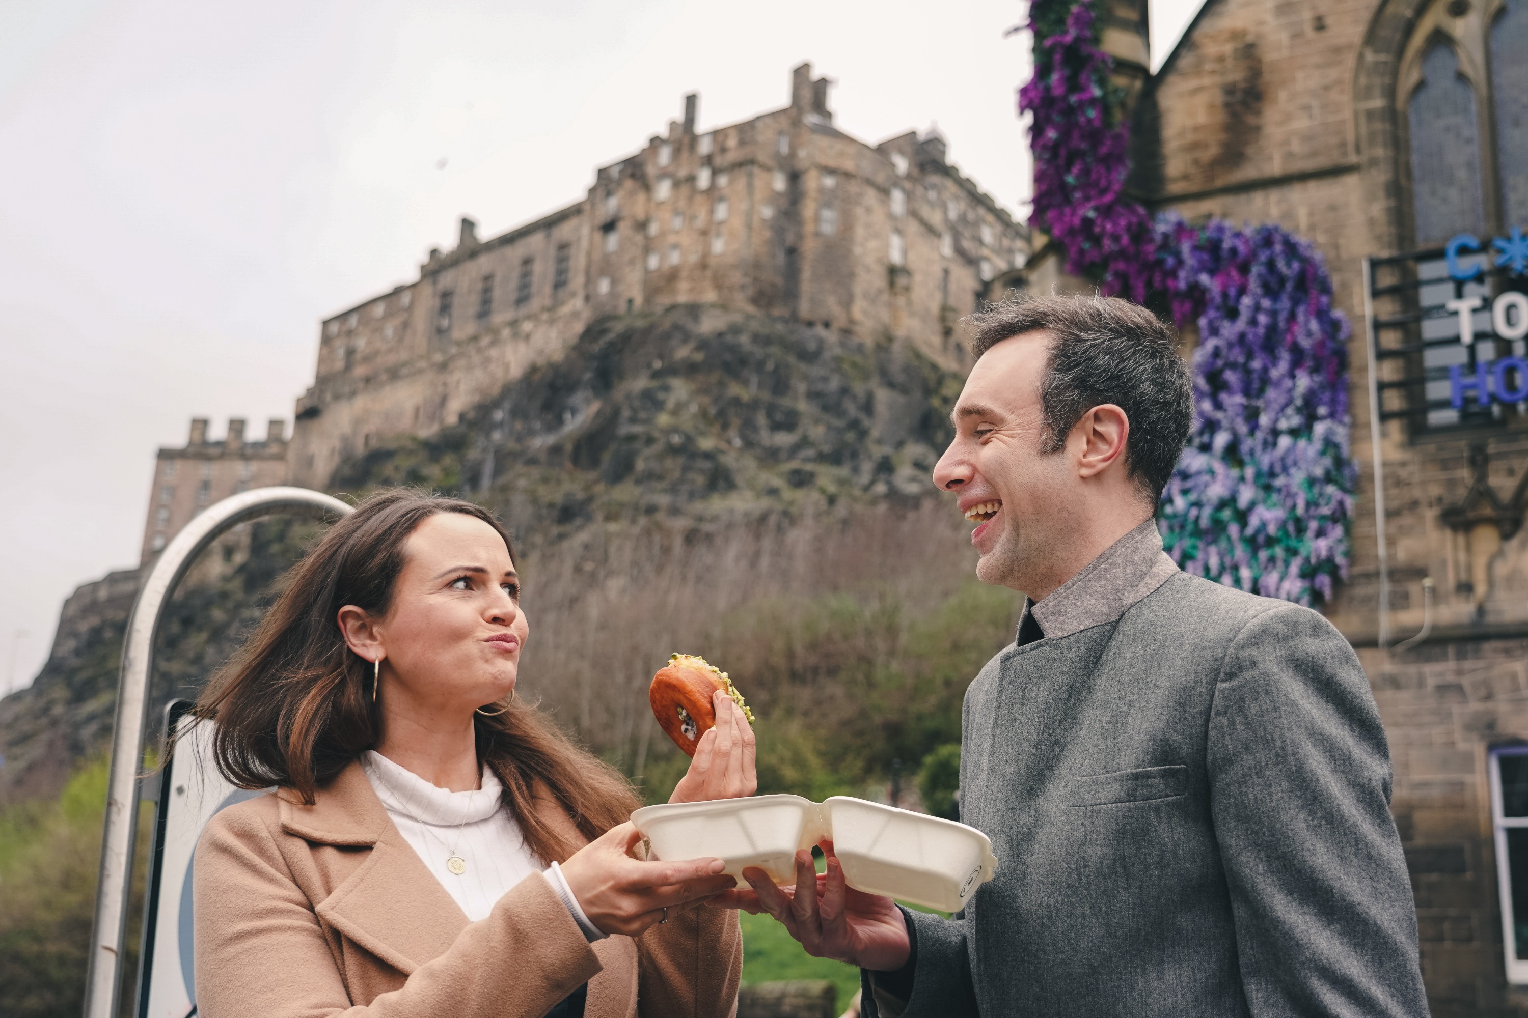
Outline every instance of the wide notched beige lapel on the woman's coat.
<path id="1" fill-rule="evenodd" d="M 312 806 L 281 797 L 281 827 L 312 842 L 371 852 L 324 900 L 319 919 L 403 975 L 445 954 L 468 917 L 397 832 L 361 762 Z"/>

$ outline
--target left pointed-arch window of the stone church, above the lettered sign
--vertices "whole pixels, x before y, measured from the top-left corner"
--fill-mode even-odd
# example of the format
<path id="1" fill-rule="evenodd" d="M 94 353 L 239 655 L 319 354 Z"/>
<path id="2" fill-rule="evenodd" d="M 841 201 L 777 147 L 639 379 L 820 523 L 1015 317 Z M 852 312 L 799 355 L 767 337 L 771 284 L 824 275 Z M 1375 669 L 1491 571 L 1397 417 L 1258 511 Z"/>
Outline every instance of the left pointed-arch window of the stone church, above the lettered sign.
<path id="1" fill-rule="evenodd" d="M 1433 40 L 1407 108 L 1412 142 L 1412 211 L 1416 246 L 1459 232 L 1485 232 L 1481 139 L 1475 90 L 1453 47 Z"/>

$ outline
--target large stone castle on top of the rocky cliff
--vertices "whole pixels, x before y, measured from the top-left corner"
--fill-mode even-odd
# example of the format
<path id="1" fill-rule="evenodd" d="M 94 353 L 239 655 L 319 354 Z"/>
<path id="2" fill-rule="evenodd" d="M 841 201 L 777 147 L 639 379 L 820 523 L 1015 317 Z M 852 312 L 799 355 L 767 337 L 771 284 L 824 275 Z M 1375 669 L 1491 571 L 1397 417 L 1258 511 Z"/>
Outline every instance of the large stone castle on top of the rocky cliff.
<path id="1" fill-rule="evenodd" d="M 914 131 L 866 145 L 833 125 L 827 78 L 792 72 L 790 105 L 697 131 L 698 98 L 582 201 L 494 238 L 461 220 L 416 282 L 319 325 L 313 386 L 261 444 L 231 421 L 159 452 L 144 560 L 206 499 L 240 485 L 324 488 L 394 435 L 429 435 L 567 350 L 604 314 L 720 304 L 860 339 L 897 337 L 961 366 L 955 328 L 1019 285 L 1028 227 Z"/>

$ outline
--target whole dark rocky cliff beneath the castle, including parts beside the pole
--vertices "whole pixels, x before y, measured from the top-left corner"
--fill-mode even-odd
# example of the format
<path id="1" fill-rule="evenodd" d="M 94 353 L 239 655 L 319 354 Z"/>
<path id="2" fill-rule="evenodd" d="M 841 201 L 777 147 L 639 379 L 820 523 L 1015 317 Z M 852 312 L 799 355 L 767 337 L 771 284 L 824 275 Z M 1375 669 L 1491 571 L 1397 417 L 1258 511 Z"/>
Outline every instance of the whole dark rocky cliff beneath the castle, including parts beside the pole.
<path id="1" fill-rule="evenodd" d="M 911 507 L 949 440 L 960 377 L 909 346 L 711 307 L 607 317 L 428 440 L 341 466 L 330 488 L 460 491 L 510 525 L 523 554 L 750 520 Z M 235 533 L 165 620 L 151 701 L 194 696 L 269 603 L 315 530 Z M 209 552 L 212 554 L 212 552 Z M 591 566 L 587 566 L 591 568 Z M 0 702 L 0 804 L 53 795 L 110 740 L 118 661 L 139 574 L 86 585 L 34 685 Z"/>

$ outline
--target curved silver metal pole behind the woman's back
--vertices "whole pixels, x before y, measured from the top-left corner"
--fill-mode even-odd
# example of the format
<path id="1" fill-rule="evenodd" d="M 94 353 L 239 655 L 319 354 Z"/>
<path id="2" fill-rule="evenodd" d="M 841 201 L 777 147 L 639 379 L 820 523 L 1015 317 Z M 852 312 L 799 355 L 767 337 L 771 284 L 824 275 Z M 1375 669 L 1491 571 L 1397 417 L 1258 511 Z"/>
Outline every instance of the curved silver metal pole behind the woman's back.
<path id="1" fill-rule="evenodd" d="M 148 673 L 154 633 L 170 597 L 191 563 L 222 534 L 238 523 L 289 513 L 339 519 L 350 507 L 309 488 L 254 488 L 208 507 L 176 534 L 144 581 L 133 604 L 122 643 L 122 670 L 112 726 L 112 777 L 107 786 L 105 830 L 101 836 L 101 879 L 96 884 L 95 928 L 86 977 L 84 1018 L 113 1018 L 122 975 L 127 934 L 127 896 L 131 888 L 133 842 L 138 833 L 138 768 L 148 723 Z"/>

